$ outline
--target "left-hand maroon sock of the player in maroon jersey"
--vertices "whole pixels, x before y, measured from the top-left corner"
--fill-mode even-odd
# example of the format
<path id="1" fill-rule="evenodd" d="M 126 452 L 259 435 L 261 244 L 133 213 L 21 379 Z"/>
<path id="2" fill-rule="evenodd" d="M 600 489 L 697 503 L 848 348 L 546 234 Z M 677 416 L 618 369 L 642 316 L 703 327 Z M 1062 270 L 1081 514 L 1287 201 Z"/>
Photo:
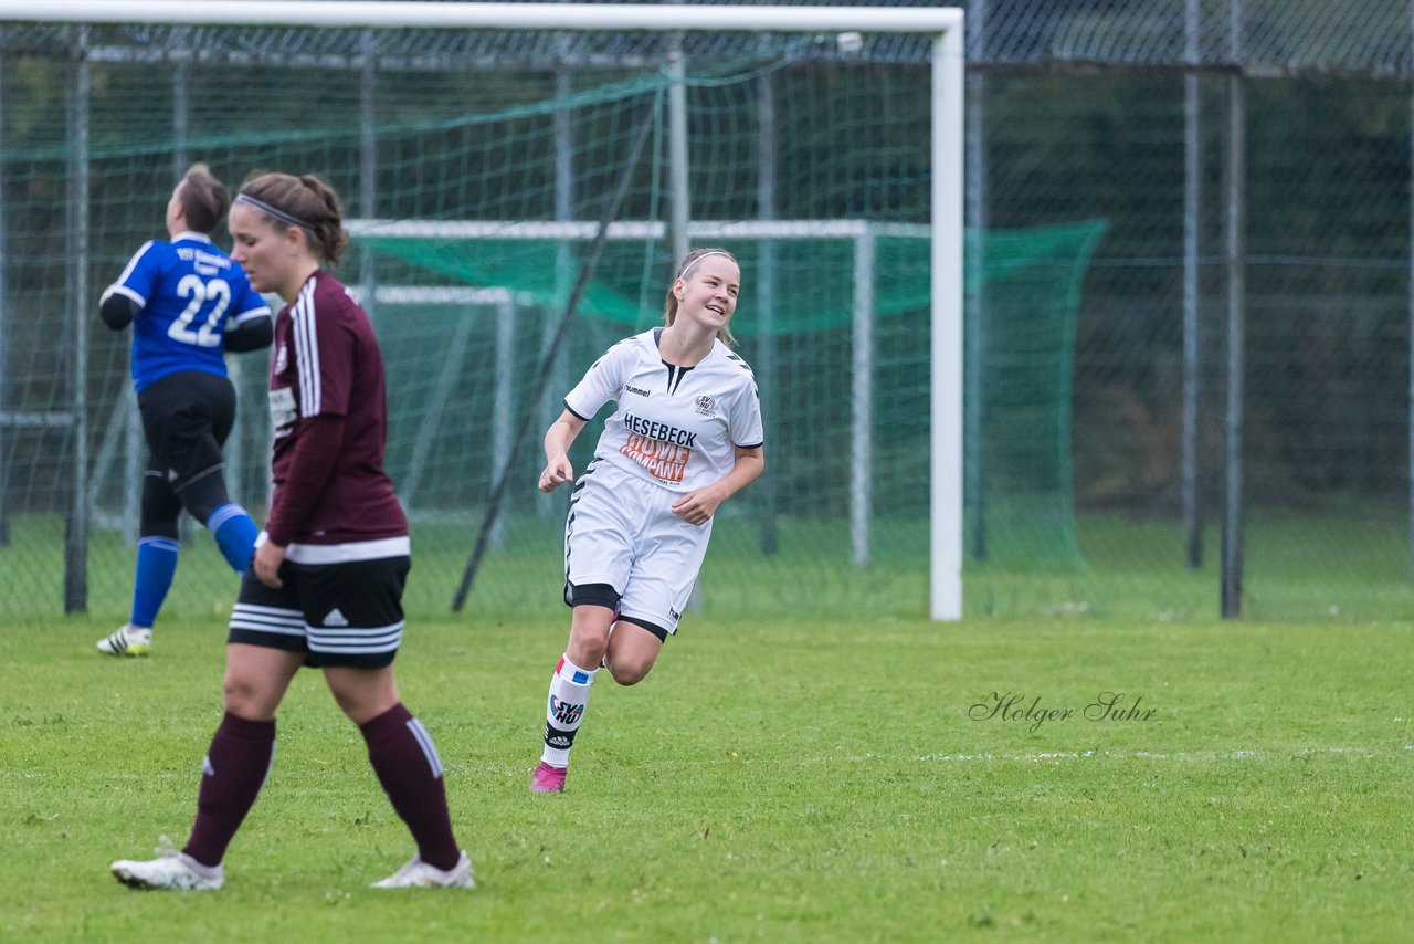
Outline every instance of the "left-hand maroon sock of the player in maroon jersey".
<path id="1" fill-rule="evenodd" d="M 201 767 L 197 825 L 182 852 L 202 865 L 221 865 L 226 846 L 260 795 L 271 763 L 274 722 L 249 722 L 226 712 Z"/>

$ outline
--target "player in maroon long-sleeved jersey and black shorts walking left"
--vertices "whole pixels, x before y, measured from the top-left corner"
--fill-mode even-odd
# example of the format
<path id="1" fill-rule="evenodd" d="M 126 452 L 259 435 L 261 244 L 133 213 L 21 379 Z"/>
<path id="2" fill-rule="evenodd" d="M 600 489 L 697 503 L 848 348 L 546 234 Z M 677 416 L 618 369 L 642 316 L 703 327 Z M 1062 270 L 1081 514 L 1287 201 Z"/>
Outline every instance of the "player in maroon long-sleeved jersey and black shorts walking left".
<path id="1" fill-rule="evenodd" d="M 112 866 L 141 889 L 216 889 L 226 846 L 274 760 L 274 715 L 301 665 L 324 671 L 358 725 L 417 855 L 375 887 L 471 887 L 447 812 L 441 760 L 393 678 L 403 638 L 407 518 L 383 471 L 387 408 L 373 327 L 320 263 L 348 245 L 318 177 L 260 174 L 230 208 L 232 256 L 279 294 L 270 365 L 274 495 L 240 583 L 226 645 L 225 718 L 202 764 L 187 845 Z"/>

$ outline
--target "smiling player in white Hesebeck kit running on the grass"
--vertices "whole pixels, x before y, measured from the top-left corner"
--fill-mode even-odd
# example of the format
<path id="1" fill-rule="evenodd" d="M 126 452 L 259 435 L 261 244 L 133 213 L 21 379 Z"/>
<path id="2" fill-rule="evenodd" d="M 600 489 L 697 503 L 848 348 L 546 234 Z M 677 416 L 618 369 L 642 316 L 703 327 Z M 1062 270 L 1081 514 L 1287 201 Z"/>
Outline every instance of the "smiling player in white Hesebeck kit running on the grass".
<path id="1" fill-rule="evenodd" d="M 540 491 L 554 491 L 574 478 L 570 443 L 617 403 L 570 500 L 570 644 L 550 678 L 532 793 L 564 790 L 600 667 L 619 685 L 653 668 L 697 582 L 713 514 L 765 468 L 756 381 L 728 347 L 740 289 L 730 252 L 689 253 L 667 292 L 666 327 L 611 347 L 544 434 Z"/>

